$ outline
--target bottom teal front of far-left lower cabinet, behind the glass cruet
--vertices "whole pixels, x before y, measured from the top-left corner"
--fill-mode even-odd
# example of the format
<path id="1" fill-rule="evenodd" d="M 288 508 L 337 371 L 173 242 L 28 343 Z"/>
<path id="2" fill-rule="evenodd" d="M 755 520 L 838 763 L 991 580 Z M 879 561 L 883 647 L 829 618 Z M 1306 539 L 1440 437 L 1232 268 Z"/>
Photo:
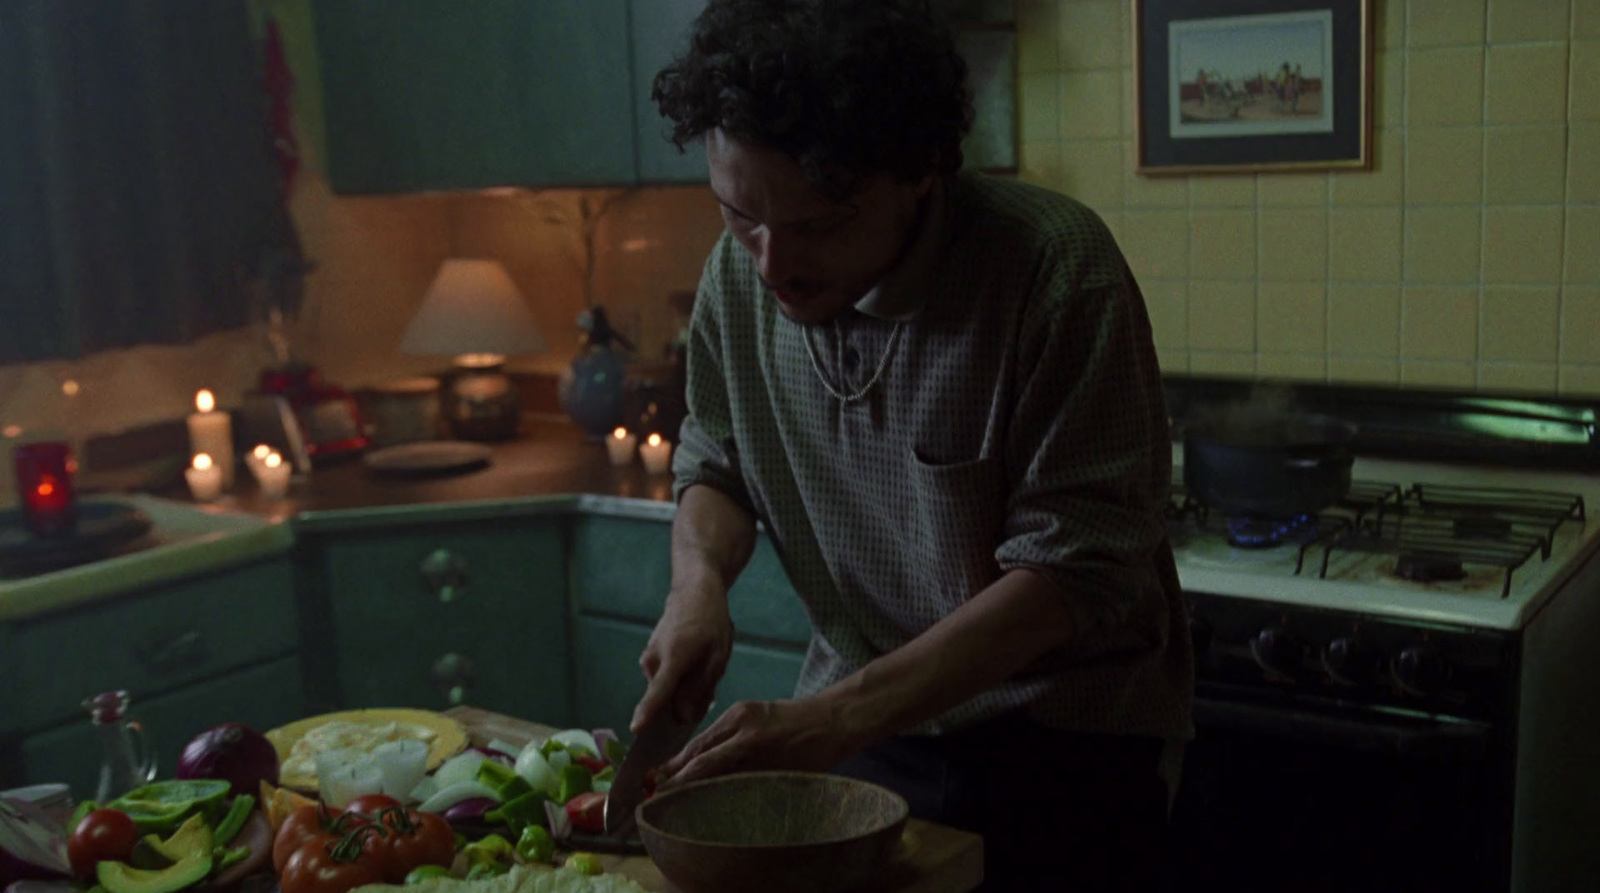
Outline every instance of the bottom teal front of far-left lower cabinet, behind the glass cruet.
<path id="1" fill-rule="evenodd" d="M 171 778 L 178 755 L 195 735 L 224 722 L 266 731 L 304 714 L 299 656 L 290 655 L 250 669 L 208 679 L 147 701 L 134 701 L 138 719 L 155 752 L 160 778 Z M 94 795 L 99 784 L 101 741 L 88 717 L 24 738 L 18 778 L 6 767 L 0 787 L 66 781 L 72 795 Z"/>

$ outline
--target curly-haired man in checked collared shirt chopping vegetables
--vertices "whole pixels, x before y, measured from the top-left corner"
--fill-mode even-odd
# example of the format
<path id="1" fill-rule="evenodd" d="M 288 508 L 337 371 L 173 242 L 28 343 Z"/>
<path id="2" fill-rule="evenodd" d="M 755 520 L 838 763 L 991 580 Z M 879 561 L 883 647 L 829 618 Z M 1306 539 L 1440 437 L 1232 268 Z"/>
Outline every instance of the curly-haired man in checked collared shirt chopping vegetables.
<path id="1" fill-rule="evenodd" d="M 795 696 L 730 707 L 667 784 L 837 770 L 984 834 L 984 890 L 1154 888 L 1194 669 L 1106 226 L 962 171 L 966 66 L 926 0 L 710 0 L 653 98 L 726 232 L 634 730 L 706 715 L 757 522 L 813 624 Z"/>

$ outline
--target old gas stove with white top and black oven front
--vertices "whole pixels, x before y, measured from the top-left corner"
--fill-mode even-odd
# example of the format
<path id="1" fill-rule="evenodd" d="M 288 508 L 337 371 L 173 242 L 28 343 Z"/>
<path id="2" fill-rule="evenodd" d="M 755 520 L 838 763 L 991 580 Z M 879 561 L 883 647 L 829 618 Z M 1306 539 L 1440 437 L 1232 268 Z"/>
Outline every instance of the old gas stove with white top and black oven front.
<path id="1" fill-rule="evenodd" d="M 1251 382 L 1168 379 L 1174 440 Z M 1600 405 L 1296 386 L 1357 426 L 1312 515 L 1184 487 L 1195 739 L 1173 890 L 1594 890 Z"/>

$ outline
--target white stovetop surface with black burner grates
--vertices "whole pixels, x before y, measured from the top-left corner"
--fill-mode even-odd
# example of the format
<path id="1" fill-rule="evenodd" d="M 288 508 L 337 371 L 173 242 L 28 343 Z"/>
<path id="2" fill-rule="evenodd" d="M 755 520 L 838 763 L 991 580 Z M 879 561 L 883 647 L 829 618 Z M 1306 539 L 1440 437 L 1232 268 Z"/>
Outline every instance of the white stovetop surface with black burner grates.
<path id="1" fill-rule="evenodd" d="M 1229 519 L 1187 495 L 1179 466 L 1168 528 L 1184 589 L 1510 631 L 1600 547 L 1594 475 L 1357 459 L 1352 477 L 1315 515 Z"/>

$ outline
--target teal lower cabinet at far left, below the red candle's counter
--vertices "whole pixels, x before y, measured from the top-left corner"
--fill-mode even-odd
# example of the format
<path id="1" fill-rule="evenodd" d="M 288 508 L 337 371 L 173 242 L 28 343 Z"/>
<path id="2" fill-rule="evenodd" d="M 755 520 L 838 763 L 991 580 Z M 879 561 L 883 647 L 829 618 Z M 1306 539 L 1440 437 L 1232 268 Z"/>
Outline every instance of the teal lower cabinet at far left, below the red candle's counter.
<path id="1" fill-rule="evenodd" d="M 0 787 L 69 781 L 91 795 L 101 744 L 82 701 L 130 691 L 162 771 L 222 722 L 304 715 L 288 557 L 237 565 L 0 626 Z"/>

